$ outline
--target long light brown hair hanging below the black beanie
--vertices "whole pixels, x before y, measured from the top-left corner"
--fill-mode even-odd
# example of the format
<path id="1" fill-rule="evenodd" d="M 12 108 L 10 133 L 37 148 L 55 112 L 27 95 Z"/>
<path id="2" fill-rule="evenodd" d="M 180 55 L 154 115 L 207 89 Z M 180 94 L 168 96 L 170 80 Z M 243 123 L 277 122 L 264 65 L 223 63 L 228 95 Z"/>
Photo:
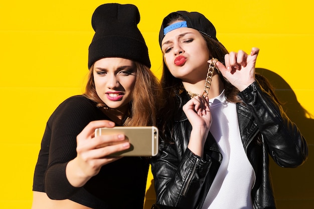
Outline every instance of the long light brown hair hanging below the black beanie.
<path id="1" fill-rule="evenodd" d="M 136 81 L 132 93 L 129 111 L 123 126 L 147 126 L 156 125 L 157 111 L 161 104 L 161 87 L 159 80 L 150 69 L 133 61 L 137 69 Z M 94 82 L 94 66 L 89 69 L 88 81 L 84 96 L 94 101 L 97 107 L 107 107 L 99 98 Z"/>

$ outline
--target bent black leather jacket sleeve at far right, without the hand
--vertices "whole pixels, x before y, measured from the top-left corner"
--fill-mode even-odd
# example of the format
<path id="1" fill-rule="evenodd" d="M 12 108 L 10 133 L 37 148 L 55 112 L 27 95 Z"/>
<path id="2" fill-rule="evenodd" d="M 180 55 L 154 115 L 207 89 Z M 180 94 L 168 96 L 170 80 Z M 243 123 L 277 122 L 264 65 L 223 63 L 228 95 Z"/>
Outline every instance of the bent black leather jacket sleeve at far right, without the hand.
<path id="1" fill-rule="evenodd" d="M 255 81 L 239 93 L 261 131 L 269 154 L 282 167 L 296 167 L 307 158 L 307 145 L 297 126 L 274 98 Z"/>

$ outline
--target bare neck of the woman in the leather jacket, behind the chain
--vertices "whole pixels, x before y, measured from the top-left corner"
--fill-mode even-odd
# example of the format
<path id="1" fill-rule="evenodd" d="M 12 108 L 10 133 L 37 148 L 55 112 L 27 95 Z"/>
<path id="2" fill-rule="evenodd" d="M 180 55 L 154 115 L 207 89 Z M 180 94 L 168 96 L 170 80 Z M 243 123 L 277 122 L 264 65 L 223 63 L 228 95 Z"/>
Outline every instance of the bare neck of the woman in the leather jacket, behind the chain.
<path id="1" fill-rule="evenodd" d="M 205 82 L 206 80 L 204 79 L 193 84 L 188 82 L 182 82 L 182 84 L 188 92 L 201 95 L 204 91 Z M 215 71 L 212 77 L 211 86 L 207 96 L 209 99 L 215 98 L 219 96 L 223 90 L 224 90 L 223 82 L 220 79 L 218 73 Z"/>

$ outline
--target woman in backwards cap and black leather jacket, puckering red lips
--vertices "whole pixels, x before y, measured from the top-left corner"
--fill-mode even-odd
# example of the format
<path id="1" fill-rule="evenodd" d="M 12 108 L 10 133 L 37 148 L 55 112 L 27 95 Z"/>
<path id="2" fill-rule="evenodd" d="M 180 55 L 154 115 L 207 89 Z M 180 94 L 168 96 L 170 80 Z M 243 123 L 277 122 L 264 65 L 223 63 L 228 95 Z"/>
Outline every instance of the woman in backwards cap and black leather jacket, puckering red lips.
<path id="1" fill-rule="evenodd" d="M 228 53 L 211 22 L 186 11 L 164 19 L 159 41 L 167 107 L 151 162 L 155 207 L 275 208 L 268 155 L 296 167 L 307 145 L 255 75 L 259 49 Z"/>

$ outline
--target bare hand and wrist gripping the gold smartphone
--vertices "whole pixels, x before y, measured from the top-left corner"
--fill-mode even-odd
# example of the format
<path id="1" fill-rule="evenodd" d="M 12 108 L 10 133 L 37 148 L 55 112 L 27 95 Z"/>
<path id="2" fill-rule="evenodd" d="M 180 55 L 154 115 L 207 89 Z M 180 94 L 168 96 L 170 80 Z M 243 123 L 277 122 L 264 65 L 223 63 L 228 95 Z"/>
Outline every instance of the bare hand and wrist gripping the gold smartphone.
<path id="1" fill-rule="evenodd" d="M 110 154 L 130 146 L 123 134 L 95 137 L 95 129 L 101 127 L 114 127 L 114 123 L 108 120 L 92 121 L 76 137 L 77 156 L 66 167 L 67 178 L 73 186 L 83 186 L 98 174 L 103 165 L 121 158 Z"/>

